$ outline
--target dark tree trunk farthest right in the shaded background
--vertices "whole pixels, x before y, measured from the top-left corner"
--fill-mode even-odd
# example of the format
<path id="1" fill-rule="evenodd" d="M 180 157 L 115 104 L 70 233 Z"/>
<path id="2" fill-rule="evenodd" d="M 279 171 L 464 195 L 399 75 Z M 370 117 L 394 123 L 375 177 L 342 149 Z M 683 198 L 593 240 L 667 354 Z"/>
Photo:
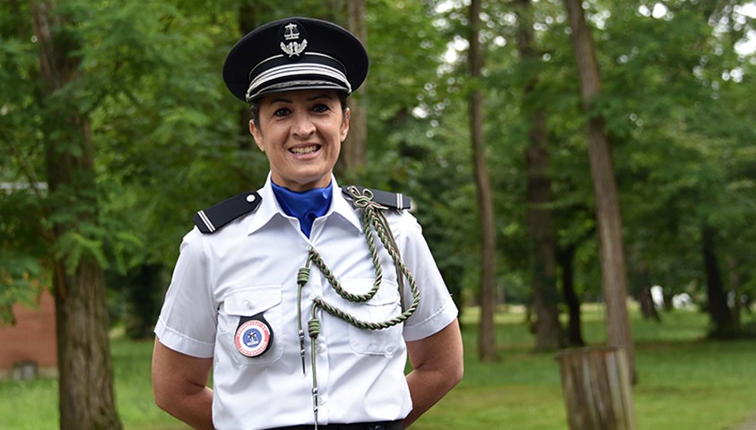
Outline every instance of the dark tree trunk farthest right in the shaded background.
<path id="1" fill-rule="evenodd" d="M 727 294 L 724 282 L 722 282 L 714 244 L 716 234 L 714 228 L 706 223 L 701 227 L 701 252 L 706 270 L 708 314 L 711 317 L 711 323 L 714 324 L 714 329 L 709 332 L 709 337 L 730 339 L 737 335 L 738 327 L 734 323 L 729 306 L 727 306 Z"/>

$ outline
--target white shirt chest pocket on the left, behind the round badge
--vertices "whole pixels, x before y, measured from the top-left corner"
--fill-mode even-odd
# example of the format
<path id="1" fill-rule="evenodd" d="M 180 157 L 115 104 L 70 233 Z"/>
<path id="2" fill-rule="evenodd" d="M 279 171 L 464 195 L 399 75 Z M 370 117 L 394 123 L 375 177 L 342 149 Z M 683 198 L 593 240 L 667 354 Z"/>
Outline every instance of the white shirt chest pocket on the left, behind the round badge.
<path id="1" fill-rule="evenodd" d="M 232 292 L 221 306 L 218 334 L 226 353 L 241 366 L 266 365 L 283 355 L 286 332 L 282 329 L 281 286 L 265 285 Z M 245 357 L 236 348 L 236 331 L 243 318 L 262 314 L 273 330 L 273 345 L 259 357 Z"/>

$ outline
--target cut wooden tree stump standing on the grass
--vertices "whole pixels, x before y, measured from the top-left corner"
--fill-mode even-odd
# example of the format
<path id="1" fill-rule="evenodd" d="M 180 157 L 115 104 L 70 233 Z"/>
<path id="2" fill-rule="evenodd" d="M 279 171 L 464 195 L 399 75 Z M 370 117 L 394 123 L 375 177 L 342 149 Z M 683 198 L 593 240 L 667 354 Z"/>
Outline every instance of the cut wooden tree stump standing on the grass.
<path id="1" fill-rule="evenodd" d="M 571 430 L 635 430 L 624 350 L 573 348 L 556 358 Z"/>

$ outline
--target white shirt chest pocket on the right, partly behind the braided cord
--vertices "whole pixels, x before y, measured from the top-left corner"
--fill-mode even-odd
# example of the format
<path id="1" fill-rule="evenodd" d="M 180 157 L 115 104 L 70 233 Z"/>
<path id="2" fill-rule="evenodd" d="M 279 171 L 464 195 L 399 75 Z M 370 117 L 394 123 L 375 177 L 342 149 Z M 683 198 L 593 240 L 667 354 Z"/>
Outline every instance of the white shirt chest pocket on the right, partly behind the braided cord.
<path id="1" fill-rule="evenodd" d="M 352 293 L 364 293 L 373 280 L 344 280 L 342 287 Z M 384 280 L 375 297 L 367 302 L 347 302 L 344 310 L 355 318 L 369 323 L 382 323 L 402 313 L 399 291 L 395 282 Z M 391 357 L 402 342 L 403 324 L 382 330 L 366 330 L 349 324 L 349 344 L 361 354 Z"/>

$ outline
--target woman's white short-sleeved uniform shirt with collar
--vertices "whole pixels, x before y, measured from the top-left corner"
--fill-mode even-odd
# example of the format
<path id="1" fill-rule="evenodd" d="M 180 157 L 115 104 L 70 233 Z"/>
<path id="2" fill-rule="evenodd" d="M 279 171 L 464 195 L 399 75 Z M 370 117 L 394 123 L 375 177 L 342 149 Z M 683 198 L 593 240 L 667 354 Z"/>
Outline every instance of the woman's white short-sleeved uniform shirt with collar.
<path id="1" fill-rule="evenodd" d="M 361 227 L 334 184 L 330 210 L 315 220 L 310 237 L 299 221 L 284 214 L 270 186 L 258 191 L 252 213 L 204 235 L 190 231 L 180 248 L 165 303 L 155 328 L 161 343 L 193 357 L 213 357 L 213 424 L 219 429 L 266 429 L 312 424 L 311 340 L 307 321 L 313 297 L 322 297 L 369 322 L 401 313 L 395 265 L 376 237 L 383 282 L 368 302 L 339 297 L 311 265 L 302 292 L 307 374 L 302 374 L 297 324 L 297 271 L 314 247 L 342 287 L 363 294 L 375 269 Z M 367 331 L 318 310 L 316 340 L 318 424 L 403 419 L 412 409 L 404 378 L 403 340 L 421 340 L 452 323 L 457 309 L 441 279 L 420 225 L 408 211 L 386 211 L 402 258 L 420 289 L 417 311 L 404 324 Z M 404 281 L 404 300 L 412 295 Z M 235 347 L 239 319 L 263 313 L 274 331 L 272 346 L 260 357 Z"/>

